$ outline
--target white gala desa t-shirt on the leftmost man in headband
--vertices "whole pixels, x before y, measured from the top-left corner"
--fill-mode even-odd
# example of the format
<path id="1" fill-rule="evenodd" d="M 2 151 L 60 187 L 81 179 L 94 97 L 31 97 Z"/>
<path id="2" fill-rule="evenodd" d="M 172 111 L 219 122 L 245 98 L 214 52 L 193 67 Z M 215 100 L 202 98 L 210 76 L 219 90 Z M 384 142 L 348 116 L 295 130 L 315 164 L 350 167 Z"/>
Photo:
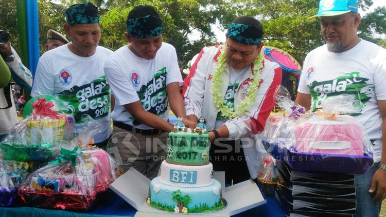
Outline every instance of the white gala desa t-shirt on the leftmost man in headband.
<path id="1" fill-rule="evenodd" d="M 98 46 L 89 57 L 71 52 L 68 47 L 45 52 L 39 60 L 33 81 L 32 96 L 58 96 L 72 111 L 80 133 L 87 126 L 87 115 L 102 125 L 102 133 L 94 137 L 99 143 L 111 135 L 110 86 L 104 76 L 103 65 L 113 52 Z"/>

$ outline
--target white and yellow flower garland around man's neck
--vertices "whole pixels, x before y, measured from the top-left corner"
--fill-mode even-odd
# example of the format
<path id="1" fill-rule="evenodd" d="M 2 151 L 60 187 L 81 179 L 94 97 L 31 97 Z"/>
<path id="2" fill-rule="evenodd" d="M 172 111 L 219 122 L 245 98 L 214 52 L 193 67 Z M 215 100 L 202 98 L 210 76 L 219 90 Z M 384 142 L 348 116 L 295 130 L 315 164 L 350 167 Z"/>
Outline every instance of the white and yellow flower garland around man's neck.
<path id="1" fill-rule="evenodd" d="M 225 71 L 226 68 L 226 59 L 225 59 L 225 49 L 221 49 L 221 53 L 217 58 L 217 67 L 215 74 L 213 76 L 213 85 L 210 91 L 213 94 L 213 103 L 217 111 L 221 112 L 222 116 L 227 117 L 228 119 L 233 119 L 234 117 L 243 115 L 253 104 L 256 98 L 256 91 L 260 83 L 260 72 L 263 69 L 264 54 L 259 53 L 253 62 L 253 73 L 251 80 L 248 83 L 247 94 L 245 95 L 244 100 L 241 101 L 240 105 L 237 107 L 234 112 L 231 108 L 224 105 L 224 96 L 222 95 L 222 77 L 221 72 Z M 256 87 L 256 88 L 250 88 Z"/>

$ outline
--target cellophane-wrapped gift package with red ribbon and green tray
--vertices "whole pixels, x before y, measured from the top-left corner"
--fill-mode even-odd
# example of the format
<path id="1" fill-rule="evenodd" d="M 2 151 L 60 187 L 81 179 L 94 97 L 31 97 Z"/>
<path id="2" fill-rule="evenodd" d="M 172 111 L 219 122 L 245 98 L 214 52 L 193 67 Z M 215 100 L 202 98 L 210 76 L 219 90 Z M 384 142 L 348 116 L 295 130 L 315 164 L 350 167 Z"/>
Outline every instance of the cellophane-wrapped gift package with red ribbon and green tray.
<path id="1" fill-rule="evenodd" d="M 61 148 L 71 148 L 75 137 L 74 116 L 58 112 L 53 102 L 37 98 L 31 115 L 17 123 L 0 142 L 4 159 L 16 161 L 48 161 Z"/>

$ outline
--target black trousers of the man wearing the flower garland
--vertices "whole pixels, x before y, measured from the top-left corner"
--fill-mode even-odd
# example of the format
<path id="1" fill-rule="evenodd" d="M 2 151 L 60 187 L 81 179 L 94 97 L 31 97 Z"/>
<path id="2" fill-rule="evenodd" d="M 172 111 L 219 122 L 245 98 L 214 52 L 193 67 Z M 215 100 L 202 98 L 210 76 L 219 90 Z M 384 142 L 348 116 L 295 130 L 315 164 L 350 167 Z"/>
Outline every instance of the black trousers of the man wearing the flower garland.
<path id="1" fill-rule="evenodd" d="M 225 171 L 225 184 L 237 184 L 251 178 L 240 141 L 212 143 L 209 160 L 214 171 Z"/>

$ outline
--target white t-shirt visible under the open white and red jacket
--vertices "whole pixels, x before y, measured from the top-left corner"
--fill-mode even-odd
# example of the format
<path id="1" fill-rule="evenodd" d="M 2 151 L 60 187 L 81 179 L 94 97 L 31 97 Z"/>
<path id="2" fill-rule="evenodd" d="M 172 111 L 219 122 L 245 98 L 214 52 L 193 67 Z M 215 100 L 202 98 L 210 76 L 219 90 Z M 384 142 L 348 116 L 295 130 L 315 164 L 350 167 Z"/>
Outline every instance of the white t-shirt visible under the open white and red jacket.
<path id="1" fill-rule="evenodd" d="M 237 92 L 237 88 L 239 84 L 243 82 L 244 74 L 251 70 L 251 67 L 245 67 L 243 69 L 234 69 L 229 66 L 229 84 L 224 95 L 224 105 L 235 110 L 235 93 Z M 221 127 L 226 121 L 229 119 L 221 115 L 221 112 L 217 113 L 215 129 Z"/>

